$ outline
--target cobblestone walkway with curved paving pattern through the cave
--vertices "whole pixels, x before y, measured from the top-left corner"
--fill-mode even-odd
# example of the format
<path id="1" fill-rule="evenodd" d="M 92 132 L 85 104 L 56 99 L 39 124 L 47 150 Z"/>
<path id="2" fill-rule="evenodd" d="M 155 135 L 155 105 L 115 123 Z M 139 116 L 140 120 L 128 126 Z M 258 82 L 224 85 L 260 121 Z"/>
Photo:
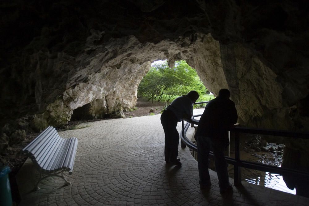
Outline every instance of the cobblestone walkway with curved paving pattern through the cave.
<path id="1" fill-rule="evenodd" d="M 86 128 L 59 132 L 77 137 L 69 186 L 57 177 L 41 181 L 28 159 L 17 183 L 19 205 L 307 205 L 308 199 L 243 182 L 221 195 L 215 172 L 210 190 L 200 190 L 197 162 L 179 148 L 182 166 L 166 166 L 160 115 L 84 123 Z M 178 124 L 179 131 L 181 124 Z M 180 145 L 180 144 L 179 144 Z M 233 179 L 230 179 L 233 183 Z"/>

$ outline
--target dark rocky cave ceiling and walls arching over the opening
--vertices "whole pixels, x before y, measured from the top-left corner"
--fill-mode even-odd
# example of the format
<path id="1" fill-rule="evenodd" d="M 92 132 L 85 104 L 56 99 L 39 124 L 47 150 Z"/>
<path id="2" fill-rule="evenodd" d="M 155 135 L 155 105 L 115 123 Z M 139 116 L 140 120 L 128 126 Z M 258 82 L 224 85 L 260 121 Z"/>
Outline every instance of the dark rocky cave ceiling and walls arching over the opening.
<path id="1" fill-rule="evenodd" d="M 1 124 L 33 114 L 63 118 L 55 107 L 70 111 L 63 122 L 86 103 L 92 111 L 132 107 L 138 83 L 158 59 L 170 66 L 185 59 L 210 89 L 228 87 L 246 121 L 269 108 L 273 116 L 289 116 L 308 95 L 307 1 L 29 0 L 0 6 Z M 206 56 L 217 60 L 202 64 Z M 207 64 L 223 69 L 207 73 Z M 263 78 L 242 84 L 248 74 Z M 244 85 L 255 93 L 253 109 L 245 108 L 251 103 L 240 94 Z"/>

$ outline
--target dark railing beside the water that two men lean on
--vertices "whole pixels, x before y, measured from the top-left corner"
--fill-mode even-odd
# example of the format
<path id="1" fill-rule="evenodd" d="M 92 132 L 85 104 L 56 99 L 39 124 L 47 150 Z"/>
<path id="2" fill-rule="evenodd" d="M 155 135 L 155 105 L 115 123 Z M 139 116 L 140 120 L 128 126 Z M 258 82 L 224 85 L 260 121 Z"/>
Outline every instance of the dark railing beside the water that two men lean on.
<path id="1" fill-rule="evenodd" d="M 207 102 L 203 102 L 203 103 L 207 103 Z M 200 104 L 200 103 L 195 103 L 195 104 Z M 198 125 L 199 121 L 194 119 L 194 117 L 197 117 L 197 116 L 201 116 L 201 114 L 194 115 L 191 119 L 182 120 L 182 131 L 180 133 L 181 146 L 182 147 L 188 146 L 194 151 L 197 151 L 197 146 L 187 138 L 186 132 L 188 128 L 190 127 L 190 124 Z M 184 124 L 184 121 L 186 121 L 187 123 Z M 300 139 L 309 139 L 309 133 L 291 132 L 291 131 L 275 130 L 275 129 L 256 129 L 256 128 L 246 128 L 246 127 L 239 127 L 239 126 L 236 126 L 235 128 L 231 129 L 230 132 L 235 133 L 235 158 L 225 156 L 225 159 L 227 163 L 234 165 L 234 184 L 235 185 L 241 184 L 241 168 L 242 167 L 248 168 L 248 169 L 260 170 L 264 172 L 277 173 L 280 175 L 298 174 L 298 175 L 309 176 L 308 172 L 303 172 L 303 171 L 293 170 L 293 169 L 288 169 L 288 168 L 282 168 L 282 167 L 277 167 L 277 166 L 271 166 L 271 165 L 265 165 L 265 164 L 256 163 L 256 162 L 248 162 L 245 160 L 241 160 L 239 158 L 239 133 L 262 134 L 262 135 L 271 135 L 271 136 L 279 136 L 279 137 L 300 138 Z M 213 158 L 213 156 L 214 154 L 210 152 L 210 157 Z"/>

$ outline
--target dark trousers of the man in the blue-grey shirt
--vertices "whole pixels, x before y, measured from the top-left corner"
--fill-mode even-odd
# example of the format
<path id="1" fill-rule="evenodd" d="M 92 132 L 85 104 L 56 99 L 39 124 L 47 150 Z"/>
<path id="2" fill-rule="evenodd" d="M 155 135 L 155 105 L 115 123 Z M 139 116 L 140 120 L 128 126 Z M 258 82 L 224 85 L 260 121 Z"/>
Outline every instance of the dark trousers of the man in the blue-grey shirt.
<path id="1" fill-rule="evenodd" d="M 176 161 L 178 156 L 179 133 L 176 129 L 178 120 L 170 110 L 161 114 L 161 124 L 164 130 L 164 158 L 166 162 Z"/>

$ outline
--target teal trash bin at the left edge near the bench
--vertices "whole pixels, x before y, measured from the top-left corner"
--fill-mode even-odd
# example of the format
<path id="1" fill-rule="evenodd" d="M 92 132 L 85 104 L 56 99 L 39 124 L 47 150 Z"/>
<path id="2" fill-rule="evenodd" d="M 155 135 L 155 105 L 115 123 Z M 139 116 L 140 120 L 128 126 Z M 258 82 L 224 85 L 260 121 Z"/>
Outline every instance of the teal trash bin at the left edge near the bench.
<path id="1" fill-rule="evenodd" d="M 9 173 L 11 172 L 9 166 L 0 166 L 0 205 L 12 206 L 12 195 Z"/>

